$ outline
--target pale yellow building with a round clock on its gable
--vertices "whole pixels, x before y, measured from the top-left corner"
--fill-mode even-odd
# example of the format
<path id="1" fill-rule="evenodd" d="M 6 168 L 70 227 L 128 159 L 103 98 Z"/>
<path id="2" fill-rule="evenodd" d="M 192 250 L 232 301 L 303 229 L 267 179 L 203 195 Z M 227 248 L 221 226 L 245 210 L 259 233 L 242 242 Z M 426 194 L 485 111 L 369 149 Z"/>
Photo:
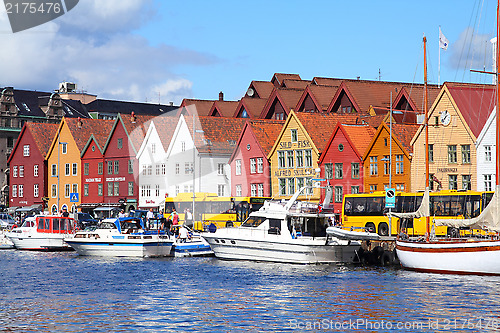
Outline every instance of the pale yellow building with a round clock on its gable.
<path id="1" fill-rule="evenodd" d="M 429 109 L 431 190 L 477 189 L 475 142 L 493 110 L 493 85 L 446 82 Z M 425 131 L 412 139 L 411 190 L 425 188 Z"/>

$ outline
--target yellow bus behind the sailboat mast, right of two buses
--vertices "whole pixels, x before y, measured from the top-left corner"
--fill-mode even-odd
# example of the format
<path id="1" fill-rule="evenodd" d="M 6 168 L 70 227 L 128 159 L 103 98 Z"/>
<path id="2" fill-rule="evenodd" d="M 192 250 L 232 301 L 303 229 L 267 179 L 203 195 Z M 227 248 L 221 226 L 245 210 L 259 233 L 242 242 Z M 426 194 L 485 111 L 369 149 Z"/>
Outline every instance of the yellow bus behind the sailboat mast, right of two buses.
<path id="1" fill-rule="evenodd" d="M 493 192 L 444 190 L 430 193 L 431 224 L 439 218 L 476 217 L 491 200 Z M 393 212 L 410 213 L 416 211 L 422 202 L 423 192 L 396 192 L 396 207 Z M 403 228 L 408 235 L 419 236 L 426 233 L 425 217 L 396 218 L 386 215 L 385 191 L 363 194 L 346 194 L 342 202 L 341 222 L 343 227 L 367 228 L 381 236 L 397 235 Z M 458 236 L 455 228 L 436 226 L 436 236 Z"/>

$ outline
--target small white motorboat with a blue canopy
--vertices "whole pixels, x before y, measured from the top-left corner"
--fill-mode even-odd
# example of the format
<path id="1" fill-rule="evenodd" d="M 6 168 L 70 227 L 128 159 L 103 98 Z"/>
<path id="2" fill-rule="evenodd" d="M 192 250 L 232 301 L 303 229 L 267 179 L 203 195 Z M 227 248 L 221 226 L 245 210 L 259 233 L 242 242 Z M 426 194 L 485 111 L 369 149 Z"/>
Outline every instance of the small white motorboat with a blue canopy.
<path id="1" fill-rule="evenodd" d="M 65 239 L 82 256 L 165 257 L 174 241 L 159 230 L 146 231 L 136 217 L 102 220 L 96 227 Z"/>

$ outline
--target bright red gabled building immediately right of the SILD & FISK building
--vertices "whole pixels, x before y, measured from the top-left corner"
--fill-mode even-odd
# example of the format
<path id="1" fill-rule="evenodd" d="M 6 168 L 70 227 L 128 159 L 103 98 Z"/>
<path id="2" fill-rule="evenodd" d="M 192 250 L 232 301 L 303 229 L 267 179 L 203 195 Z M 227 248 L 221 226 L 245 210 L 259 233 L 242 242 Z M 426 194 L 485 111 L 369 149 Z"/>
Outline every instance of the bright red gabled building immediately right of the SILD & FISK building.
<path id="1" fill-rule="evenodd" d="M 338 123 L 321 154 L 318 161 L 321 177 L 333 187 L 335 213 L 341 212 L 344 194 L 364 192 L 363 154 L 375 132 L 370 125 Z M 323 201 L 324 198 L 323 189 L 320 200 Z"/>

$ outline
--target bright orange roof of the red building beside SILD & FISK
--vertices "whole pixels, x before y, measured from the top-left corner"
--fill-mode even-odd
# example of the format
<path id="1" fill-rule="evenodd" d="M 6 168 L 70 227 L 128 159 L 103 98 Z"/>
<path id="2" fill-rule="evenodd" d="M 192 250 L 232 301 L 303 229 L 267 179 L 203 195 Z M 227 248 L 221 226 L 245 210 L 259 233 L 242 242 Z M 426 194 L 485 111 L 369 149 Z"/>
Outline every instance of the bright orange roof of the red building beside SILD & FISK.
<path id="1" fill-rule="evenodd" d="M 370 142 L 375 135 L 376 130 L 367 124 L 341 124 L 337 123 L 337 126 L 332 131 L 332 135 L 328 140 L 328 143 L 325 145 L 324 150 L 328 150 L 333 142 L 333 139 L 336 137 L 338 132 L 342 132 L 351 145 L 354 148 L 355 153 L 359 158 L 363 157 L 366 149 L 370 145 Z M 319 159 L 320 163 L 323 163 L 326 154 L 321 154 Z"/>

